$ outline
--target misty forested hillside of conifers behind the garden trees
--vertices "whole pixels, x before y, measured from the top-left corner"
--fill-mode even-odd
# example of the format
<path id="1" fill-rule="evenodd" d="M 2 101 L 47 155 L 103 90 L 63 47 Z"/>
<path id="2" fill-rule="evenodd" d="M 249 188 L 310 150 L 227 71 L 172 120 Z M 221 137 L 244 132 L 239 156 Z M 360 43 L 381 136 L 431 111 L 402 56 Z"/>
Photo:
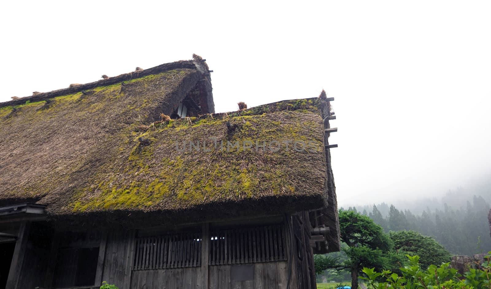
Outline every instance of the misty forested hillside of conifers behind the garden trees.
<path id="1" fill-rule="evenodd" d="M 464 200 L 464 197 L 463 194 L 449 192 L 441 199 L 441 206 L 435 201 L 426 203 L 426 206 L 421 202 L 415 208 L 419 213 L 385 203 L 371 208 L 350 207 L 348 210 L 357 210 L 369 216 L 385 232 L 413 230 L 425 236 L 434 236 L 452 254 L 473 255 L 491 251 L 490 205 L 480 195 L 468 200 Z"/>

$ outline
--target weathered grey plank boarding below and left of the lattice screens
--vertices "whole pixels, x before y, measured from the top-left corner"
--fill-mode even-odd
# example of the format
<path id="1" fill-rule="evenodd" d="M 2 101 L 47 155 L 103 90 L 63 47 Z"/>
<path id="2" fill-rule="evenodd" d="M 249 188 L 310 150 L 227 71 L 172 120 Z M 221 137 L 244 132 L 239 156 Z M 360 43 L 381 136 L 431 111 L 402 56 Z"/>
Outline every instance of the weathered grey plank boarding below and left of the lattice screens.
<path id="1" fill-rule="evenodd" d="M 286 226 L 286 224 L 285 224 Z M 303 228 L 302 228 L 303 229 Z M 290 256 L 298 255 L 298 249 L 295 242 L 290 242 L 290 230 L 287 227 L 285 230 L 285 244 L 287 245 L 288 259 Z M 292 232 L 293 233 L 293 232 Z M 129 232 L 113 232 L 107 237 L 105 248 L 105 259 L 102 273 L 102 281 L 107 281 L 109 284 L 115 284 L 123 287 L 125 284 L 125 270 L 127 269 L 126 260 L 131 248 L 132 235 Z M 290 246 L 294 245 L 294 254 L 290 253 Z M 309 249 L 307 249 L 309 250 Z M 305 248 L 300 249 L 305 252 Z M 131 256 L 130 256 L 131 257 Z M 131 257 L 133 259 L 133 257 Z M 299 260 L 295 261 L 276 261 L 250 263 L 253 268 L 253 275 L 250 280 L 234 281 L 234 276 L 231 274 L 232 266 L 240 266 L 241 264 L 222 264 L 209 265 L 208 267 L 208 288 L 209 289 L 286 289 L 288 284 L 289 270 L 292 272 L 290 280 L 290 288 L 298 289 L 299 278 L 296 276 L 298 272 Z M 289 266 L 292 266 L 289 269 Z M 206 267 L 206 266 L 205 266 Z M 146 269 L 132 270 L 129 289 L 200 289 L 203 284 L 201 280 L 201 271 L 203 267 L 184 267 L 184 268 L 167 268 L 167 269 Z M 304 271 L 303 271 L 304 272 Z M 305 279 L 307 276 L 303 276 Z M 308 278 L 308 277 L 307 277 Z M 307 284 L 309 282 L 307 281 Z"/>

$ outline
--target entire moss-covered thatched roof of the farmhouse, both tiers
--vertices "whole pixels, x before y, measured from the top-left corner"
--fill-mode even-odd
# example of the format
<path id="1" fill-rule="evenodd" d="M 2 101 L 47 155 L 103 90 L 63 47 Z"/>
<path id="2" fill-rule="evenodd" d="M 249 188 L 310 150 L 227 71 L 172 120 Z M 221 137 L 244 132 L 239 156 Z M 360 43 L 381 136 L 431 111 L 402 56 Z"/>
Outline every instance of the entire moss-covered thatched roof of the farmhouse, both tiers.
<path id="1" fill-rule="evenodd" d="M 1 103 L 0 205 L 36 202 L 63 218 L 155 212 L 183 222 L 197 211 L 203 219 L 335 205 L 321 118 L 327 103 L 213 114 L 203 64 L 169 63 Z M 189 96 L 201 116 L 161 122 Z M 227 141 L 240 147 L 227 151 Z M 274 141 L 291 142 L 276 150 Z M 295 141 L 305 149 L 295 151 Z"/>

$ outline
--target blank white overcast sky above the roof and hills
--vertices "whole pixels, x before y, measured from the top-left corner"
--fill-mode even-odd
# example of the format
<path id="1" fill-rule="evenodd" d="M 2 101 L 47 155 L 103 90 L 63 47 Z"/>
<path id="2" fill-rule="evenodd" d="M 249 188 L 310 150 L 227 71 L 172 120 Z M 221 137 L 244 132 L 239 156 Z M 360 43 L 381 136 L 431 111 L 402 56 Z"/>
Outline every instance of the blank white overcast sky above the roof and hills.
<path id="1" fill-rule="evenodd" d="M 6 1 L 0 102 L 197 53 L 217 112 L 335 98 L 339 206 L 428 197 L 490 175 L 490 15 L 491 1 Z"/>

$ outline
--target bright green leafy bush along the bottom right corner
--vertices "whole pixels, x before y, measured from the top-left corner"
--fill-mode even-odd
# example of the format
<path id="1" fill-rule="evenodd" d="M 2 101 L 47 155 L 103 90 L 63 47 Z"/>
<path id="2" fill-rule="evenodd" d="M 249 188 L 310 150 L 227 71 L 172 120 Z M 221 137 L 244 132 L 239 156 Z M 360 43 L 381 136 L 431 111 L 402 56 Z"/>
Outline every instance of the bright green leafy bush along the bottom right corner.
<path id="1" fill-rule="evenodd" d="M 370 289 L 491 289 L 491 255 L 485 256 L 487 261 L 482 264 L 483 270 L 469 269 L 464 276 L 451 268 L 450 263 L 432 264 L 424 270 L 420 267 L 419 256 L 406 256 L 409 265 L 401 268 L 401 275 L 364 267 L 362 272 L 366 277 L 360 278 L 366 280 Z"/>

